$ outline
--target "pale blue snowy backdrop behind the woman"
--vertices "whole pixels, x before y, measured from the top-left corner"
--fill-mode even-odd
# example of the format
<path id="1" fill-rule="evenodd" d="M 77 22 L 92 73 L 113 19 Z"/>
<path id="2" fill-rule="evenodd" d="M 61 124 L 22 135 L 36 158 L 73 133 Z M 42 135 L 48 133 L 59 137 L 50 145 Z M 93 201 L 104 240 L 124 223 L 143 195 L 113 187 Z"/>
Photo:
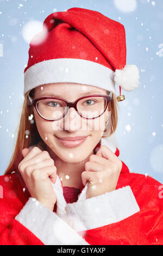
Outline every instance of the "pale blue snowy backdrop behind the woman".
<path id="1" fill-rule="evenodd" d="M 99 11 L 126 28 L 127 64 L 139 67 L 141 84 L 133 92 L 122 90 L 126 100 L 118 103 L 120 159 L 130 172 L 148 174 L 163 183 L 163 1 L 136 2 L 135 10 L 124 13 L 114 0 L 0 0 L 0 174 L 14 151 L 24 99 L 23 72 L 29 44 L 22 36 L 23 26 L 31 20 L 43 22 L 54 11 L 80 7 Z"/>

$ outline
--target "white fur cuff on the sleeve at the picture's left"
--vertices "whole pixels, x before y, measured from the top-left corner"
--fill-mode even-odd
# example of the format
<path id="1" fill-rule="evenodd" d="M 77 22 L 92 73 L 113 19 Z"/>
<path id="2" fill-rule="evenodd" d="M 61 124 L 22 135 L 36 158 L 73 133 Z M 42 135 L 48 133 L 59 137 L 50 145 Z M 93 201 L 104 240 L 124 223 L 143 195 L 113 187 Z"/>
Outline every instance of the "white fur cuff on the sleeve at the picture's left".
<path id="1" fill-rule="evenodd" d="M 45 245 L 89 245 L 82 236 L 35 198 L 29 198 L 15 217 Z"/>

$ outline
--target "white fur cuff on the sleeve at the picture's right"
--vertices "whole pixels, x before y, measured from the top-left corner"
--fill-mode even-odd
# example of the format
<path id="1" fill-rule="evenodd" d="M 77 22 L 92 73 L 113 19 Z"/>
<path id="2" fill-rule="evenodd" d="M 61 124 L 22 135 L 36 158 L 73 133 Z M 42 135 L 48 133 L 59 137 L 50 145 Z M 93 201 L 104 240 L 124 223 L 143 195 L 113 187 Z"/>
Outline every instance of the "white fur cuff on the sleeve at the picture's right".
<path id="1" fill-rule="evenodd" d="M 76 231 L 116 223 L 140 211 L 130 186 L 67 204 L 65 210 Z"/>

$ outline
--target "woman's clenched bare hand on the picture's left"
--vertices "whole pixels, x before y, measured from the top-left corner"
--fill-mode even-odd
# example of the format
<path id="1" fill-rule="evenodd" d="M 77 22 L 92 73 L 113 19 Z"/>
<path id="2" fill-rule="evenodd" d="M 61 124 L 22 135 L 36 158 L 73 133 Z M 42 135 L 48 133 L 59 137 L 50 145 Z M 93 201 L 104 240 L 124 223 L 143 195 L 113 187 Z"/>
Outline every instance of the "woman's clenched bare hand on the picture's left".
<path id="1" fill-rule="evenodd" d="M 51 181 L 55 183 L 57 179 L 54 160 L 51 159 L 48 151 L 42 151 L 38 147 L 34 147 L 31 151 L 24 148 L 22 154 L 24 159 L 18 164 L 18 170 L 30 196 L 53 211 L 57 200 L 51 184 Z"/>

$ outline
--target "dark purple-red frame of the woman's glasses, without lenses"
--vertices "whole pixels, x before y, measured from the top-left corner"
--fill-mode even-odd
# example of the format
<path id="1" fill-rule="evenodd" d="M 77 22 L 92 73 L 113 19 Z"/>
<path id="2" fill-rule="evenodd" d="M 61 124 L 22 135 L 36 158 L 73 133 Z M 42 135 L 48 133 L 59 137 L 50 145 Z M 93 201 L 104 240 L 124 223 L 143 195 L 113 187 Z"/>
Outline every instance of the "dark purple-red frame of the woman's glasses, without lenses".
<path id="1" fill-rule="evenodd" d="M 85 118 L 85 119 L 95 119 L 95 118 L 100 117 L 103 113 L 100 114 L 100 115 L 98 115 L 98 117 L 93 117 L 93 118 L 83 117 L 83 115 L 80 114 L 80 112 L 78 112 L 78 109 L 77 109 L 77 103 L 78 103 L 79 100 L 86 99 L 87 97 L 95 97 L 95 96 L 104 97 L 104 98 L 106 99 L 107 103 L 106 103 L 105 109 L 104 109 L 104 111 L 103 111 L 103 113 L 104 113 L 105 110 L 106 110 L 106 108 L 107 108 L 108 105 L 109 105 L 109 102 L 111 101 L 112 92 L 110 92 L 109 95 L 93 94 L 93 95 L 90 95 L 90 96 L 88 95 L 88 96 L 80 97 L 80 98 L 78 98 L 76 101 L 73 101 L 73 102 L 69 102 L 69 101 L 66 101 L 65 99 L 58 98 L 58 97 L 40 97 L 40 98 L 37 98 L 37 99 L 32 99 L 32 97 L 30 97 L 29 94 L 28 94 L 28 98 L 29 98 L 29 101 L 30 101 L 30 105 L 33 105 L 33 106 L 35 107 L 37 113 L 39 114 L 39 116 L 40 116 L 42 119 L 47 120 L 47 121 L 58 121 L 58 120 L 60 120 L 61 118 L 64 118 L 65 115 L 66 115 L 67 112 L 68 112 L 68 109 L 71 108 L 71 107 L 73 107 L 74 109 L 76 109 L 77 113 L 78 113 L 78 114 L 80 115 L 80 117 L 82 117 L 82 118 Z M 62 115 L 60 118 L 55 119 L 55 120 L 49 120 L 49 119 L 43 118 L 42 115 L 39 113 L 37 107 L 36 107 L 36 103 L 37 103 L 37 101 L 39 101 L 39 100 L 48 100 L 48 99 L 49 99 L 49 100 L 51 99 L 51 100 L 62 100 L 62 101 L 64 101 L 64 102 L 66 103 L 67 107 L 68 107 L 67 110 L 66 110 L 66 112 L 64 113 L 64 115 Z"/>

